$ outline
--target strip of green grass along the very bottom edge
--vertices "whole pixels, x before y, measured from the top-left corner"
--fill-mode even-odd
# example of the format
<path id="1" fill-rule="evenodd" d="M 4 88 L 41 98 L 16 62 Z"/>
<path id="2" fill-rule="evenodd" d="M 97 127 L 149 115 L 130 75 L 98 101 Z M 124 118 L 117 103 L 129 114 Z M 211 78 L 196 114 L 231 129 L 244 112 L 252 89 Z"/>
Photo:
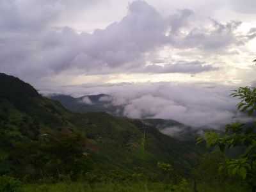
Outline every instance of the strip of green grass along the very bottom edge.
<path id="1" fill-rule="evenodd" d="M 163 183 L 99 183 L 99 184 L 85 184 L 83 182 L 61 182 L 58 184 L 32 184 L 25 186 L 26 192 L 170 192 L 171 185 Z M 189 189 L 176 189 L 177 192 L 193 192 L 192 186 Z M 198 185 L 198 192 L 245 192 L 242 186 L 209 186 L 206 184 Z"/>

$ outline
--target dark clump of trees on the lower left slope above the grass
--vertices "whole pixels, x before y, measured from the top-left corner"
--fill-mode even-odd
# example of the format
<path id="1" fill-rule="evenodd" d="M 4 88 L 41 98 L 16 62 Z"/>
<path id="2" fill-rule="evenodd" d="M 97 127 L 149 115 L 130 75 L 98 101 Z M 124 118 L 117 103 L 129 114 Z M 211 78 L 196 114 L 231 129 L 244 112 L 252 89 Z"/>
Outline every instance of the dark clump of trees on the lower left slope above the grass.
<path id="1" fill-rule="evenodd" d="M 10 152 L 12 170 L 19 177 L 40 179 L 61 175 L 72 178 L 92 169 L 90 157 L 85 153 L 86 139 L 80 134 L 45 134 L 39 141 L 16 143 Z"/>

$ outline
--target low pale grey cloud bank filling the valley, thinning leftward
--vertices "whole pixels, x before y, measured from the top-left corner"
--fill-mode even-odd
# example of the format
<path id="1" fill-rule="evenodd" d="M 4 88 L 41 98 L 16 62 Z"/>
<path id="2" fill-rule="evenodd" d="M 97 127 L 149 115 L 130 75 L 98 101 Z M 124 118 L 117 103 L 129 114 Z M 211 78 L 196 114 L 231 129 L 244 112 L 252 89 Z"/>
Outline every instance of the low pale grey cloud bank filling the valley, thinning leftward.
<path id="1" fill-rule="evenodd" d="M 234 88 L 213 83 L 143 83 L 70 86 L 62 93 L 106 93 L 111 97 L 102 99 L 122 106 L 124 115 L 130 118 L 164 118 L 193 127 L 218 129 L 230 122 L 250 120 L 237 111 L 239 100 L 230 97 Z"/>

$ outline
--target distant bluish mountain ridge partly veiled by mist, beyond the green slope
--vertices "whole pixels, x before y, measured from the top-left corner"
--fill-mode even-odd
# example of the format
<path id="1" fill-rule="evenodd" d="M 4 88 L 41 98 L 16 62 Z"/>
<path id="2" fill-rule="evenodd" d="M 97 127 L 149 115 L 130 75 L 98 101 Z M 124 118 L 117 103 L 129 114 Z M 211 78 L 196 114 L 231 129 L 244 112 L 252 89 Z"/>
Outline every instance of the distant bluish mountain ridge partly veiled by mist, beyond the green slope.
<path id="1" fill-rule="evenodd" d="M 77 113 L 106 112 L 111 115 L 122 116 L 124 107 L 113 106 L 111 95 L 85 95 L 74 98 L 69 95 L 50 95 L 52 100 L 57 100 L 70 111 Z M 159 118 L 143 119 L 143 123 L 156 127 L 163 134 L 179 138 L 180 140 L 195 140 L 198 136 L 197 129 L 181 124 L 175 120 L 164 120 Z"/>

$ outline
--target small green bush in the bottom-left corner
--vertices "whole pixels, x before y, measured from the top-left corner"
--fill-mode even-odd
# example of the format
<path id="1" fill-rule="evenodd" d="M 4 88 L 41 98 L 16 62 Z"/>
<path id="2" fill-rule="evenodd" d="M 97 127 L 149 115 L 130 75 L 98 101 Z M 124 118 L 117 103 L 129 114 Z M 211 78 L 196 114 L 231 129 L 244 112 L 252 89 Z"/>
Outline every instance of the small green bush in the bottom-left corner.
<path id="1" fill-rule="evenodd" d="M 19 180 L 13 177 L 0 177 L 0 192 L 21 192 L 22 184 Z"/>

